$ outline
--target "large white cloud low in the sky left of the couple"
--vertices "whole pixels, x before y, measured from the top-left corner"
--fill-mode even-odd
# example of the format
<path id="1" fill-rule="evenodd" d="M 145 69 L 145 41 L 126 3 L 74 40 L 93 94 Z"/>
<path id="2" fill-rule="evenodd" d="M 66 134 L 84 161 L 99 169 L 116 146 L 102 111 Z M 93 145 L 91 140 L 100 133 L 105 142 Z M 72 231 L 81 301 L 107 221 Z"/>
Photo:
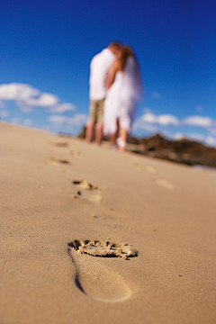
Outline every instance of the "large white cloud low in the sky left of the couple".
<path id="1" fill-rule="evenodd" d="M 13 101 L 23 112 L 31 112 L 33 107 L 56 113 L 75 111 L 72 103 L 62 103 L 57 95 L 42 93 L 31 85 L 20 83 L 0 85 L 0 101 Z"/>

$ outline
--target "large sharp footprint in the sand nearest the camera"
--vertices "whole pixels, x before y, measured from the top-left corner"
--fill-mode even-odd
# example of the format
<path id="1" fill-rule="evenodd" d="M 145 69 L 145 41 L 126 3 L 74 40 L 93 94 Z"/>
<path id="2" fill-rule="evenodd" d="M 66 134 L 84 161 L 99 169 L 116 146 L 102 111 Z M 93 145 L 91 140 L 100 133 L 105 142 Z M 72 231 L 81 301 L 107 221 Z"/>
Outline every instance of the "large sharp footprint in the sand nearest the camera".
<path id="1" fill-rule="evenodd" d="M 137 253 L 126 244 L 74 240 L 68 244 L 68 254 L 76 267 L 76 287 L 86 296 L 100 302 L 123 302 L 129 299 L 132 293 L 129 285 L 121 275 L 109 270 L 104 257 L 126 259 L 137 256 Z"/>

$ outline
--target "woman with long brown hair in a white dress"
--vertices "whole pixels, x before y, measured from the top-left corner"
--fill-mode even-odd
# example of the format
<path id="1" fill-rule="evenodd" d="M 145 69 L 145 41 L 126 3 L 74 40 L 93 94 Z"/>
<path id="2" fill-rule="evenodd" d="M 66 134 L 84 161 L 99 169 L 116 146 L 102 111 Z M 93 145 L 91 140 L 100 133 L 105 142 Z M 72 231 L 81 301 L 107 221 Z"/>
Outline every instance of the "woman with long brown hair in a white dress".
<path id="1" fill-rule="evenodd" d="M 133 51 L 124 46 L 109 72 L 103 118 L 104 134 L 110 135 L 113 145 L 121 152 L 126 149 L 127 138 L 141 94 L 138 62 Z"/>

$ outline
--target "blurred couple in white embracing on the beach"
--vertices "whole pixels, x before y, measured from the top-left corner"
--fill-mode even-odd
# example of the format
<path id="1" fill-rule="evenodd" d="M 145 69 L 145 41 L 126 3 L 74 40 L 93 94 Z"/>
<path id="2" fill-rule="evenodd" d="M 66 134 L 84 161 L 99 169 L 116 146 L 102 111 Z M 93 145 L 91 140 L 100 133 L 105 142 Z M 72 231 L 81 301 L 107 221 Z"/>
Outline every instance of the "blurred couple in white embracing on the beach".
<path id="1" fill-rule="evenodd" d="M 103 133 L 110 135 L 113 146 L 125 151 L 131 123 L 141 99 L 139 65 L 128 46 L 112 42 L 95 55 L 90 64 L 90 118 L 86 140 L 93 137 L 101 144 Z"/>

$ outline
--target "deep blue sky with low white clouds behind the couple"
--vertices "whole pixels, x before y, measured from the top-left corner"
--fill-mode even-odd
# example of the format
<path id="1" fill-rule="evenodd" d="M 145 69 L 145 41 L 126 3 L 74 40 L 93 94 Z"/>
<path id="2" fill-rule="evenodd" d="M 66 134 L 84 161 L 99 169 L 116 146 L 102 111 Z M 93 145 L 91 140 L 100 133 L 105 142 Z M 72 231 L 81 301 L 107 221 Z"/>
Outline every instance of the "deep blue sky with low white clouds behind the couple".
<path id="1" fill-rule="evenodd" d="M 91 58 L 135 49 L 145 85 L 133 134 L 216 147 L 214 0 L 1 0 L 0 116 L 76 134 L 88 114 Z"/>

